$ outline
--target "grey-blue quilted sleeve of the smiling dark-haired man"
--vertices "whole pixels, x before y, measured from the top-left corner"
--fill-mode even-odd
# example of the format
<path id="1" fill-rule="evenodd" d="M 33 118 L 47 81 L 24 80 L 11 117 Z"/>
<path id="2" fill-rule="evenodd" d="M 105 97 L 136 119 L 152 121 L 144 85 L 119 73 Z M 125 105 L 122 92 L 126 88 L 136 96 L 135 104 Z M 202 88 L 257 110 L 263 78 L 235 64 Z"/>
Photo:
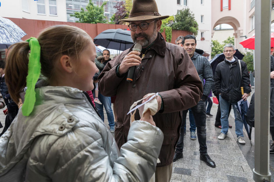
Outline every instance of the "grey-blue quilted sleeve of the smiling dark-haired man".
<path id="1" fill-rule="evenodd" d="M 206 81 L 203 87 L 203 96 L 201 99 L 206 100 L 210 94 L 212 86 L 214 85 L 214 79 L 213 79 L 212 68 L 209 64 L 209 61 L 206 58 L 203 58 L 203 60 L 204 60 L 203 76 Z"/>

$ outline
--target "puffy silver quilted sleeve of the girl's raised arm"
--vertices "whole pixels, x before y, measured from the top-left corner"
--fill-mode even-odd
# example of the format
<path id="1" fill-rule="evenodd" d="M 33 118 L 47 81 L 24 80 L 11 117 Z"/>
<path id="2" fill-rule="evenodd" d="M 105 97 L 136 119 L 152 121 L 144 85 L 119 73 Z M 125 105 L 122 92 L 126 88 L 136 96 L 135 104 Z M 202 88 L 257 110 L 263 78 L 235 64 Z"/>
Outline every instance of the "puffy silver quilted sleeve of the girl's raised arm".
<path id="1" fill-rule="evenodd" d="M 163 134 L 158 127 L 145 121 L 134 121 L 128 142 L 121 147 L 120 157 L 113 156 L 115 152 L 106 152 L 108 148 L 118 150 L 108 130 L 81 130 L 83 128 L 78 128 L 60 138 L 60 141 L 57 140 L 45 155 L 45 160 L 30 158 L 26 181 L 144 182 L 149 181 L 154 174 L 163 141 Z M 91 136 L 92 140 L 89 140 Z M 111 146 L 107 145 L 109 140 L 113 140 Z M 74 155 L 78 148 L 82 149 Z"/>

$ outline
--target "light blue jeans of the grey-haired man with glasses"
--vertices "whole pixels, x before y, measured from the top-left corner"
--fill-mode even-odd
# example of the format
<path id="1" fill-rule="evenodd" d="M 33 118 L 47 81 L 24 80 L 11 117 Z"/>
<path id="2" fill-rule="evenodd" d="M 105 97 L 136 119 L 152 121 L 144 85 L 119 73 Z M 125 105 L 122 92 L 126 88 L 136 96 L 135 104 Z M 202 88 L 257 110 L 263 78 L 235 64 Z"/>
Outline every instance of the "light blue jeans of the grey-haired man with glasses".
<path id="1" fill-rule="evenodd" d="M 220 108 L 221 108 L 221 125 L 222 125 L 221 133 L 224 133 L 226 135 L 228 132 L 228 116 L 229 116 L 230 103 L 227 100 L 223 99 L 221 95 L 219 95 L 219 100 L 220 100 Z M 244 133 L 243 133 L 244 123 L 239 111 L 237 110 L 237 106 L 236 106 L 237 104 L 238 103 L 231 103 L 234 110 L 234 116 L 235 116 L 235 133 L 237 137 L 239 136 L 244 137 Z"/>

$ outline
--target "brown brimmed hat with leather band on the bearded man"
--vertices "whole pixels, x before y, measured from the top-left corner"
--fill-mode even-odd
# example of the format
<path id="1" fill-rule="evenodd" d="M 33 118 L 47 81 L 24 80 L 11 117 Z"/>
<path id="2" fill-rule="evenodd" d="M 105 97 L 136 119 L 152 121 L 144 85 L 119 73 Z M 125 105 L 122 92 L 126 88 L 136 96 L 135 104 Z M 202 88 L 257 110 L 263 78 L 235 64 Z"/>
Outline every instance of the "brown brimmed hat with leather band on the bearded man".
<path id="1" fill-rule="evenodd" d="M 120 22 L 133 22 L 152 19 L 166 19 L 169 16 L 161 16 L 155 0 L 134 0 L 132 9 L 127 19 L 119 20 Z"/>

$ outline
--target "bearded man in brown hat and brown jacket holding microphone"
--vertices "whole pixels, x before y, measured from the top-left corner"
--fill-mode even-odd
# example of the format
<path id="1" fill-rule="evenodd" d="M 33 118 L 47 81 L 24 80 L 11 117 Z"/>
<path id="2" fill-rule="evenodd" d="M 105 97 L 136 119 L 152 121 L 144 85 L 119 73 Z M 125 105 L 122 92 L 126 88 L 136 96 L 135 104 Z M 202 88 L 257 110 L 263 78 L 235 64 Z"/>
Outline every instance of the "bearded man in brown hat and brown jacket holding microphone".
<path id="1" fill-rule="evenodd" d="M 195 106 L 203 95 L 202 82 L 186 50 L 165 42 L 159 33 L 161 20 L 165 18 L 168 16 L 158 13 L 155 0 L 134 0 L 129 18 L 120 21 L 130 23 L 131 38 L 134 44 L 142 46 L 141 53 L 132 51 L 132 46 L 108 62 L 99 76 L 100 93 L 116 95 L 115 140 L 121 150 L 130 128 L 130 115 L 127 115 L 130 106 L 148 93 L 159 92 L 158 113 L 153 120 L 164 133 L 164 141 L 155 180 L 163 182 L 171 179 L 172 160 L 182 123 L 180 111 Z M 131 66 L 136 66 L 136 71 L 132 83 L 127 83 Z M 139 114 L 135 114 L 135 119 L 140 119 Z"/>

